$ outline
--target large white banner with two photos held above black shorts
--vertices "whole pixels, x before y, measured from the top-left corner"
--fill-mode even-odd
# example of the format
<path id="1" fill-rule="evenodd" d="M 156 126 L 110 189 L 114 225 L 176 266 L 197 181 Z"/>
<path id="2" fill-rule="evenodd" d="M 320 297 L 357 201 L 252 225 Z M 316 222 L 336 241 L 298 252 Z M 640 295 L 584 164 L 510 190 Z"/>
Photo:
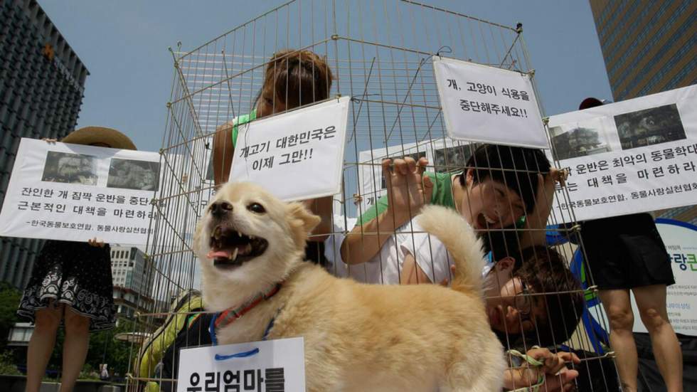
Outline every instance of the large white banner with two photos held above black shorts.
<path id="1" fill-rule="evenodd" d="M 697 203 L 697 85 L 550 117 L 570 222 Z"/>

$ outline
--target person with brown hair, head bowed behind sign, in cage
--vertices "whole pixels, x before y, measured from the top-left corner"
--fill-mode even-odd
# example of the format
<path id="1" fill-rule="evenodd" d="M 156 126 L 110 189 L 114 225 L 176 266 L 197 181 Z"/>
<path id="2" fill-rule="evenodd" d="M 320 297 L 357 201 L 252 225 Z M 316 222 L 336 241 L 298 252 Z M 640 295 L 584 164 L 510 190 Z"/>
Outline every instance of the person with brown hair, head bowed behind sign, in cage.
<path id="1" fill-rule="evenodd" d="M 324 58 L 312 51 L 284 50 L 274 53 L 266 64 L 262 89 L 254 109 L 218 127 L 213 136 L 213 176 L 217 186 L 225 184 L 235 154 L 238 127 L 252 120 L 275 115 L 329 98 L 334 75 Z M 324 264 L 322 249 L 331 226 L 331 197 L 304 202 L 322 221 L 310 236 L 307 259 Z"/>

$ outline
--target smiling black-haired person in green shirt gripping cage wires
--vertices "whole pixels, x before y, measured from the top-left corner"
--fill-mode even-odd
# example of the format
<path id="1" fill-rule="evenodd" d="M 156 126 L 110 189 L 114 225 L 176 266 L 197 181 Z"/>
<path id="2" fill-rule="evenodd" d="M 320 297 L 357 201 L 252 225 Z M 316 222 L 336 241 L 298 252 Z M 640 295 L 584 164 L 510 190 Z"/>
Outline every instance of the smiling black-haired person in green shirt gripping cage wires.
<path id="1" fill-rule="evenodd" d="M 358 218 L 341 244 L 344 263 L 366 263 L 427 203 L 456 208 L 477 231 L 516 228 L 535 208 L 541 174 L 550 163 L 541 149 L 482 144 L 459 174 L 426 172 L 427 159 L 382 163 L 387 196 Z"/>

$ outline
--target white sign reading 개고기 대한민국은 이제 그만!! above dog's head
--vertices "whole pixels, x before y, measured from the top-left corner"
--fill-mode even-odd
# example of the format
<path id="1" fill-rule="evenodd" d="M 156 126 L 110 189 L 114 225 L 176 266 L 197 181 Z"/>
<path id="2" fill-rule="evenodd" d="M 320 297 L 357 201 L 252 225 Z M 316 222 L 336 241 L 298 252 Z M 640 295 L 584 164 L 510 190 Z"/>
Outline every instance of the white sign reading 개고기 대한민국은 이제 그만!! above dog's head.
<path id="1" fill-rule="evenodd" d="M 230 181 L 252 181 L 284 201 L 341 191 L 350 97 L 241 125 Z"/>

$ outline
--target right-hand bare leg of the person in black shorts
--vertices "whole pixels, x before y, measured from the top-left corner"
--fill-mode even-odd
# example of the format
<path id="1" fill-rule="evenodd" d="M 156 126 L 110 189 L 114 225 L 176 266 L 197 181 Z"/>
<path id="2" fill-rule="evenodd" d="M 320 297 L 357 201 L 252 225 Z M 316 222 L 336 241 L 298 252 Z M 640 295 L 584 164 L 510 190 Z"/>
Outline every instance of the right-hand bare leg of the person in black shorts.
<path id="1" fill-rule="evenodd" d="M 651 337 L 651 349 L 668 392 L 683 390 L 683 353 L 668 319 L 666 286 L 651 285 L 632 289 L 644 327 Z"/>

